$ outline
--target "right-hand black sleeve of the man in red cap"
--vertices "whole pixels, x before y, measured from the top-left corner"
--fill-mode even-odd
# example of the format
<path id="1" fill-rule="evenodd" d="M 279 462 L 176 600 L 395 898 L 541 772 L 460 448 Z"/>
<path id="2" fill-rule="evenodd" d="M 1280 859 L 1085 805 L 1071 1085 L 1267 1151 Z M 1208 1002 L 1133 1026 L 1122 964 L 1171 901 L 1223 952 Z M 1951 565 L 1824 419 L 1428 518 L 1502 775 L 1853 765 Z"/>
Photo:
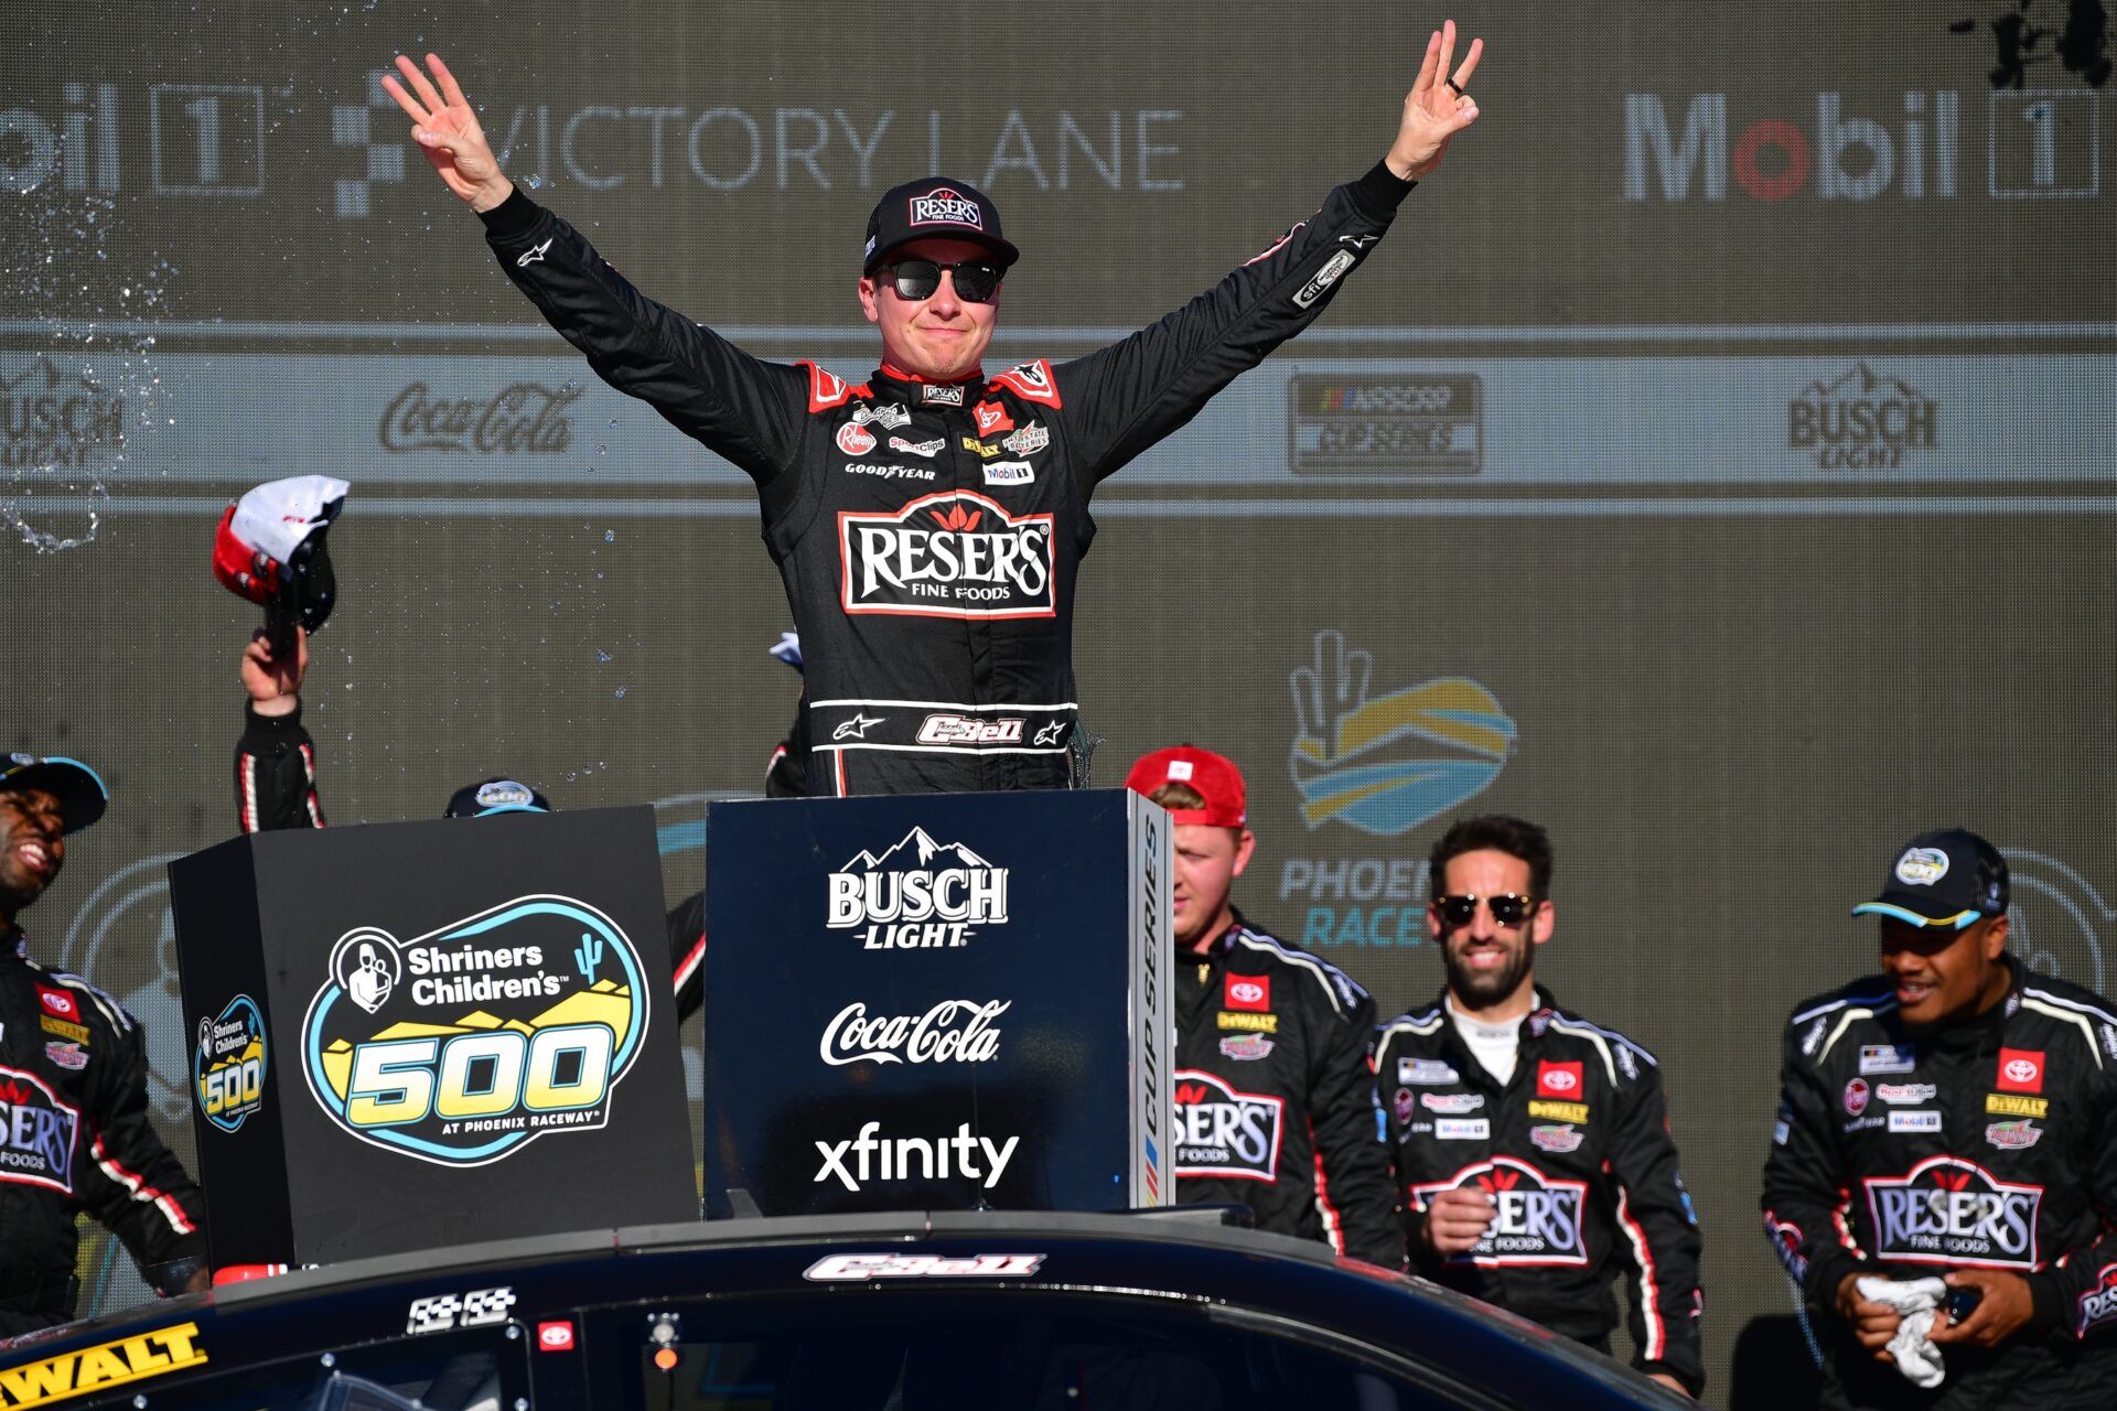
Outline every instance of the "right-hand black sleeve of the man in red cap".
<path id="1" fill-rule="evenodd" d="M 1308 1128 L 1317 1147 L 1317 1204 L 1340 1254 L 1404 1267 L 1404 1227 L 1374 1102 L 1374 1001 L 1332 975 L 1342 1003 L 1323 1030 L 1308 1073 Z M 1336 1212 L 1336 1221 L 1332 1221 Z"/>

